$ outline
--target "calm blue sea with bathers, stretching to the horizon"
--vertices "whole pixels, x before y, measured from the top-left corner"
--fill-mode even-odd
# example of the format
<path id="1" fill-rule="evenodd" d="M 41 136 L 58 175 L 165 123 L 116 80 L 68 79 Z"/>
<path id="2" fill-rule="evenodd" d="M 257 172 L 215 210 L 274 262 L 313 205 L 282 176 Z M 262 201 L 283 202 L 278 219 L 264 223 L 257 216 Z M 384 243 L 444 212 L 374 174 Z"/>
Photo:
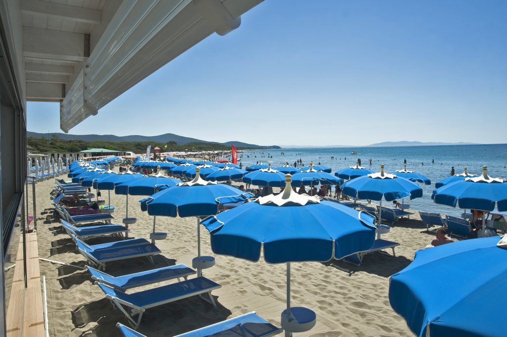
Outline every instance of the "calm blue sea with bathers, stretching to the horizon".
<path id="1" fill-rule="evenodd" d="M 357 155 L 351 155 L 355 151 Z M 281 153 L 284 153 L 282 155 Z M 268 158 L 273 156 L 273 158 Z M 469 173 L 481 174 L 482 167 L 488 166 L 488 174 L 492 177 L 507 178 L 507 144 L 487 145 L 439 145 L 439 146 L 394 146 L 394 147 L 337 147 L 337 148 L 282 148 L 262 151 L 246 151 L 240 154 L 243 168 L 262 161 L 271 162 L 272 166 L 283 165 L 286 161 L 293 165 L 298 159 L 308 166 L 314 165 L 331 167 L 332 174 L 355 166 L 357 159 L 361 159 L 361 166 L 373 171 L 380 171 L 380 165 L 385 165 L 385 171 L 392 172 L 403 169 L 403 160 L 407 159 L 407 170 L 421 173 L 431 179 L 431 185 L 419 184 L 423 189 L 423 197 L 405 200 L 414 210 L 439 212 L 458 216 L 462 210 L 438 205 L 431 200 L 434 183 L 448 177 L 451 167 L 455 173 L 462 173 L 466 166 Z M 247 157 L 249 156 L 249 158 Z M 334 156 L 334 159 L 331 157 Z M 370 166 L 369 159 L 372 159 Z M 431 163 L 434 160 L 434 164 Z M 298 165 L 298 167 L 300 167 Z"/>

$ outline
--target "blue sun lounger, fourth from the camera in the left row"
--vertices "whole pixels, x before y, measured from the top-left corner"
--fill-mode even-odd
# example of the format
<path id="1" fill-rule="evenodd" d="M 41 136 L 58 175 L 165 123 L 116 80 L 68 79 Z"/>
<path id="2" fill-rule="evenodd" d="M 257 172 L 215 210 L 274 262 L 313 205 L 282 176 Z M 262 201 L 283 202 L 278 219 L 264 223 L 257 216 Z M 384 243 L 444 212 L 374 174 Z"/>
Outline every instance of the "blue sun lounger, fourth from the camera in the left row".
<path id="1" fill-rule="evenodd" d="M 155 264 L 152 256 L 162 251 L 146 239 L 129 239 L 99 245 L 89 246 L 75 236 L 72 236 L 78 250 L 88 261 L 99 270 L 105 270 L 105 264 L 111 261 L 124 260 L 146 256 Z"/>

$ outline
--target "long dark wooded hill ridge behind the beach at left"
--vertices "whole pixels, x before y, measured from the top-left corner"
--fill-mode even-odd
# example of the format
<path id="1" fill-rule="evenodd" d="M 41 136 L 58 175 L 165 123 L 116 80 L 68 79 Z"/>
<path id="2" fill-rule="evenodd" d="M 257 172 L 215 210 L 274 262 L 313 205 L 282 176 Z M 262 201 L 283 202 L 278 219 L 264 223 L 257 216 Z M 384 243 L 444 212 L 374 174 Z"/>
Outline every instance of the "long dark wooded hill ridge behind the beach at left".
<path id="1" fill-rule="evenodd" d="M 165 133 L 163 135 L 158 136 L 141 136 L 141 135 L 130 135 L 130 136 L 115 136 L 115 135 L 96 135 L 96 134 L 88 134 L 88 135 L 74 135 L 74 134 L 67 134 L 67 133 L 49 133 L 49 137 L 52 137 L 52 135 L 56 135 L 60 139 L 64 140 L 84 140 L 84 141 L 109 141 L 109 142 L 137 142 L 137 141 L 153 141 L 157 143 L 167 143 L 169 141 L 175 141 L 178 145 L 184 145 L 188 143 L 207 143 L 207 144 L 218 144 L 218 145 L 224 145 L 224 146 L 231 146 L 231 144 L 234 144 L 234 146 L 237 147 L 247 147 L 247 148 L 279 148 L 279 146 L 272 145 L 272 146 L 261 146 L 257 144 L 248 144 L 243 143 L 240 141 L 228 141 L 225 143 L 219 143 L 214 141 L 206 141 L 201 140 L 197 138 L 191 138 L 191 137 L 184 137 L 179 136 L 173 133 Z M 27 137 L 34 137 L 34 138 L 48 138 L 48 133 L 38 133 L 38 132 L 26 132 Z"/>

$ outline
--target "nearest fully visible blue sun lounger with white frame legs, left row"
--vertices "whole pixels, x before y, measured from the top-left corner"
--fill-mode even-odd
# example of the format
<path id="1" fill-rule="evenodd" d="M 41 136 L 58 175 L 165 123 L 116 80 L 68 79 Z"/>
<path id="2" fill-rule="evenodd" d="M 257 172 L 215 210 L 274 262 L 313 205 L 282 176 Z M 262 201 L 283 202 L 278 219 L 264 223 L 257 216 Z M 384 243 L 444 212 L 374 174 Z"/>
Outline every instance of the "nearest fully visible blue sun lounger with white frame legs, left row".
<path id="1" fill-rule="evenodd" d="M 202 276 L 131 294 L 126 294 L 100 283 L 97 283 L 97 285 L 105 293 L 105 297 L 111 299 L 113 305 L 127 317 L 134 329 L 139 327 L 144 311 L 178 301 L 178 299 L 199 295 L 216 308 L 211 291 L 221 287 L 220 284 Z M 202 296 L 204 293 L 209 295 L 209 301 Z M 134 319 L 135 315 L 139 315 L 137 319 Z"/>

